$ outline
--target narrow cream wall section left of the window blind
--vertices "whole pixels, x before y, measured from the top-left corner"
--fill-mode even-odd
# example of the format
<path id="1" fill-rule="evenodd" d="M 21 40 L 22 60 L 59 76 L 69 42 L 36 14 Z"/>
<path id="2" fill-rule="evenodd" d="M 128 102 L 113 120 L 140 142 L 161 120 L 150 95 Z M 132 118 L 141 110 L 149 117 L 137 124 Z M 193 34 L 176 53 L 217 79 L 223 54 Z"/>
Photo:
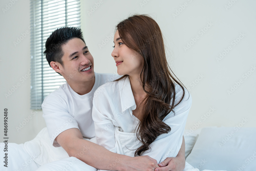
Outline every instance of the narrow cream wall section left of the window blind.
<path id="1" fill-rule="evenodd" d="M 30 34 L 26 34 L 26 31 L 30 30 L 30 1 L 14 2 L 9 5 L 9 0 L 0 1 L 0 138 L 5 137 L 4 108 L 7 108 L 7 137 L 9 142 L 20 144 L 33 139 L 45 127 L 45 121 L 41 111 L 30 110 L 30 76 L 26 75 L 30 74 Z M 11 7 L 6 8 L 6 4 Z M 3 12 L 2 8 L 8 10 Z M 17 37 L 22 34 L 26 35 L 25 38 L 15 46 L 13 42 L 17 42 Z M 4 94 L 8 94 L 8 90 L 17 83 L 20 83 L 20 86 L 6 98 Z M 25 121 L 24 126 L 20 126 L 24 119 L 27 123 Z M 16 127 L 19 126 L 23 127 L 17 131 Z"/>

